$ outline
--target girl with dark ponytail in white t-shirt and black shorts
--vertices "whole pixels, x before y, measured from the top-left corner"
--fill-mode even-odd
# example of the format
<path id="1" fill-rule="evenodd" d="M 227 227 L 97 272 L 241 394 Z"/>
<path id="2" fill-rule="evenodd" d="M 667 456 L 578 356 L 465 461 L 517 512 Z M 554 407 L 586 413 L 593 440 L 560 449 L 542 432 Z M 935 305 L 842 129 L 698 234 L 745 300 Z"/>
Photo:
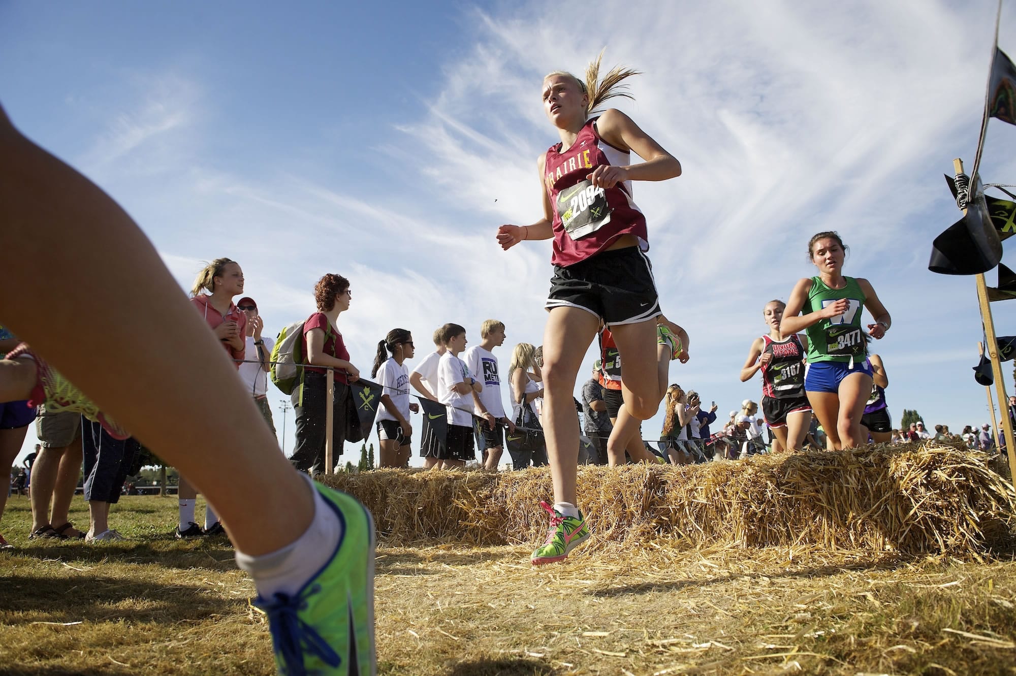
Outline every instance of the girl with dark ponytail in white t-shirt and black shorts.
<path id="1" fill-rule="evenodd" d="M 409 403 L 409 368 L 404 363 L 412 354 L 412 334 L 405 329 L 392 329 L 378 342 L 371 378 L 381 384 L 383 406 L 377 418 L 381 467 L 407 467 L 409 463 L 409 411 L 420 410 Z"/>

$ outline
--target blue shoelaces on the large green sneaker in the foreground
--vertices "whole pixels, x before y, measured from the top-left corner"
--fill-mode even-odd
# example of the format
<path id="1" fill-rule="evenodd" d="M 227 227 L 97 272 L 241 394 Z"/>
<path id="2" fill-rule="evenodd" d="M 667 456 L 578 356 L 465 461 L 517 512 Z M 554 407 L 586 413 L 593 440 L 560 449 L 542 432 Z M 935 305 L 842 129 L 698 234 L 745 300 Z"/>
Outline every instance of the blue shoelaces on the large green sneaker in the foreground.
<path id="1" fill-rule="evenodd" d="M 264 602 L 262 609 L 268 615 L 275 651 L 281 655 L 287 676 L 307 676 L 304 654 L 309 653 L 329 667 L 341 662 L 338 654 L 321 637 L 317 629 L 300 619 L 300 611 L 307 608 L 307 597 L 321 591 L 321 585 L 310 587 L 303 595 L 275 594 L 274 601 Z"/>

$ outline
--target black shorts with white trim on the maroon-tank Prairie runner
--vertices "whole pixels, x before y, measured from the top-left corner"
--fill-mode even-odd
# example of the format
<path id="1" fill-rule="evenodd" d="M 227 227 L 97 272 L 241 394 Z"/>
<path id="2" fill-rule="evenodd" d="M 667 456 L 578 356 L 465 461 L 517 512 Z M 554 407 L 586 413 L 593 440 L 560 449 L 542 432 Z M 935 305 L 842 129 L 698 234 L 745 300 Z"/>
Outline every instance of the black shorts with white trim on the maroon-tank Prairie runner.
<path id="1" fill-rule="evenodd" d="M 581 308 L 607 326 L 655 319 L 659 298 L 652 265 L 638 247 L 605 251 L 566 268 L 555 265 L 544 308 Z"/>

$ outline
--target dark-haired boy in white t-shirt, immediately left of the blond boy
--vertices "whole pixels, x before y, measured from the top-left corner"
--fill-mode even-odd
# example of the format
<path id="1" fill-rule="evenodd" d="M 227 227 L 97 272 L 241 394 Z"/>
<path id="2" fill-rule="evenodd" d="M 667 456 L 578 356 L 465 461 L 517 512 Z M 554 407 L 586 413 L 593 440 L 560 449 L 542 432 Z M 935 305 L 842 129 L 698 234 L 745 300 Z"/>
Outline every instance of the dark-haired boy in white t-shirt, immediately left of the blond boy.
<path id="1" fill-rule="evenodd" d="M 477 459 L 472 441 L 472 393 L 483 392 L 484 386 L 469 373 L 459 353 L 465 349 L 465 329 L 458 324 L 445 324 L 444 344 L 448 351 L 438 361 L 438 401 L 448 409 L 448 436 L 443 453 L 439 451 L 441 468 L 464 467 Z"/>

